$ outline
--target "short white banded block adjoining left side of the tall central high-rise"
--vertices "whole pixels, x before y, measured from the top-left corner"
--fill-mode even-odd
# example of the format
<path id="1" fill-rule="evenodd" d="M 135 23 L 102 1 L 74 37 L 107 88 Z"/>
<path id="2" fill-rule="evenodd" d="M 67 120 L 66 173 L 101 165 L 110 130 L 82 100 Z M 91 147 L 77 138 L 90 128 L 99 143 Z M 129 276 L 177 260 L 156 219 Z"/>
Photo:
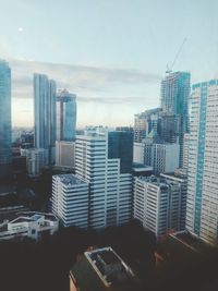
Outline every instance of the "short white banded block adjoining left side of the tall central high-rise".
<path id="1" fill-rule="evenodd" d="M 52 213 L 64 227 L 88 227 L 88 183 L 74 174 L 52 177 Z"/>

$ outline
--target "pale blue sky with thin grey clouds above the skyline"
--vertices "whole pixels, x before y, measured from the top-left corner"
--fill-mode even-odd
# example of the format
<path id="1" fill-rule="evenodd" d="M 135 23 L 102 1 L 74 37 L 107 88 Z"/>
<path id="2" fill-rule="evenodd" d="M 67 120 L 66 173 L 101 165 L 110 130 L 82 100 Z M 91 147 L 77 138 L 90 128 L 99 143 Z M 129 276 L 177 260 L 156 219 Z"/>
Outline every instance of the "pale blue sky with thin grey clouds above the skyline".
<path id="1" fill-rule="evenodd" d="M 131 125 L 173 71 L 218 77 L 217 0 L 0 0 L 13 126 L 33 126 L 33 73 L 77 95 L 77 126 Z"/>

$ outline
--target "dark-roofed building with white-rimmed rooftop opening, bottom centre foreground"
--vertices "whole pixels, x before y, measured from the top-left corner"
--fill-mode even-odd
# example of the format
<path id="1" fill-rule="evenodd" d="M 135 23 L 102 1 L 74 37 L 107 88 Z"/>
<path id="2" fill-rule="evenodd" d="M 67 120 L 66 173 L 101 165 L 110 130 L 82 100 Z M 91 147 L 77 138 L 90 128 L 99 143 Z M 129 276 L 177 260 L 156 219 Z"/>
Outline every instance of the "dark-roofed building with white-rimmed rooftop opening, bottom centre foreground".
<path id="1" fill-rule="evenodd" d="M 85 278 L 85 280 L 84 280 Z M 85 252 L 70 271 L 70 291 L 135 291 L 137 279 L 111 248 Z"/>

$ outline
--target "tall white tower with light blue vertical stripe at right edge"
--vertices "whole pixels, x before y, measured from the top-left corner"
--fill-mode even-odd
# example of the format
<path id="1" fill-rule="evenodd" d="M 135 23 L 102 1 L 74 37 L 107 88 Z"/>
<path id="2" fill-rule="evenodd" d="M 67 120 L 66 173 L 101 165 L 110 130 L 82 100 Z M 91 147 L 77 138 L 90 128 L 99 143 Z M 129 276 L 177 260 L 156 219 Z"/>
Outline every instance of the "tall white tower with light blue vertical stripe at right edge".
<path id="1" fill-rule="evenodd" d="M 191 95 L 186 229 L 218 242 L 218 80 L 194 84 Z"/>

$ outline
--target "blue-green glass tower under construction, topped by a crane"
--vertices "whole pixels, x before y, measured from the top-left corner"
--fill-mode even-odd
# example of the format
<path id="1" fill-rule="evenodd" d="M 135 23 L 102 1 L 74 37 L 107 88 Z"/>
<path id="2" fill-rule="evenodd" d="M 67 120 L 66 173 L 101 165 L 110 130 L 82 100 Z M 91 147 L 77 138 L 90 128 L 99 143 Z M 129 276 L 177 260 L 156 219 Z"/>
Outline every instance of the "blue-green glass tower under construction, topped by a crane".
<path id="1" fill-rule="evenodd" d="M 180 144 L 180 167 L 183 167 L 183 136 L 189 132 L 189 72 L 173 72 L 161 82 L 160 137 L 165 142 Z"/>

